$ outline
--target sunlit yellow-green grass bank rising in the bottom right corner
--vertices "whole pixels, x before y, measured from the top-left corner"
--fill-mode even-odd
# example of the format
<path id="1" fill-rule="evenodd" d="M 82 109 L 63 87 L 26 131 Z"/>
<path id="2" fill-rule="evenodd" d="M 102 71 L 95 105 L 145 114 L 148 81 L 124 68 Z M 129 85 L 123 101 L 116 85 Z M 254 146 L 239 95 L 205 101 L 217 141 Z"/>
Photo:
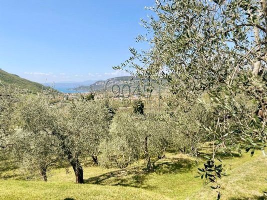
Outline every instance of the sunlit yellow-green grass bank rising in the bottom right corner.
<path id="1" fill-rule="evenodd" d="M 267 158 L 260 152 L 256 156 L 250 157 L 245 154 L 244 157 L 225 161 L 231 168 L 228 176 L 220 180 L 222 185 L 221 199 L 248 200 L 248 199 L 266 199 L 263 192 L 267 190 Z M 208 185 L 202 187 L 187 199 L 212 199 L 216 196 L 216 191 Z"/>

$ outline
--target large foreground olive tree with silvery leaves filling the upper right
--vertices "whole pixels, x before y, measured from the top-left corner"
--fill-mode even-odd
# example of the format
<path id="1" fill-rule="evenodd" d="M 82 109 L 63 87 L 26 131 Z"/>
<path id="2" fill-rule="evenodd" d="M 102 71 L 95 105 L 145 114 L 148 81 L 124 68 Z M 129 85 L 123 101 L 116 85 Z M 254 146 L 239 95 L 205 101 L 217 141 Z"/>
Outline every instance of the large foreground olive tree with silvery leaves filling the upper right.
<path id="1" fill-rule="evenodd" d="M 142 20 L 148 33 L 138 36 L 137 41 L 149 42 L 150 49 L 137 52 L 130 48 L 132 56 L 114 68 L 132 67 L 133 73 L 142 78 L 163 78 L 171 95 L 190 106 L 198 99 L 202 102 L 203 94 L 208 94 L 209 102 L 214 103 L 208 106 L 214 105 L 210 110 L 215 116 L 211 118 L 213 125 L 204 125 L 204 131 L 214 133 L 213 143 L 234 143 L 235 136 L 240 135 L 236 131 L 245 127 L 250 136 L 242 130 L 244 140 L 254 145 L 257 142 L 253 140 L 260 138 L 262 148 L 266 143 L 266 90 L 262 89 L 266 84 L 266 0 L 156 0 L 155 6 L 147 8 L 156 16 Z M 250 113 L 247 104 L 239 106 L 231 101 L 242 95 L 256 105 Z M 236 114 L 242 112 L 245 118 Z M 223 125 L 219 124 L 222 121 L 234 124 L 230 127 L 235 129 L 226 128 L 224 132 L 231 142 L 224 142 L 215 134 L 223 132 Z M 261 131 L 251 128 L 249 121 L 263 125 Z M 215 150 L 213 161 L 214 153 Z"/>

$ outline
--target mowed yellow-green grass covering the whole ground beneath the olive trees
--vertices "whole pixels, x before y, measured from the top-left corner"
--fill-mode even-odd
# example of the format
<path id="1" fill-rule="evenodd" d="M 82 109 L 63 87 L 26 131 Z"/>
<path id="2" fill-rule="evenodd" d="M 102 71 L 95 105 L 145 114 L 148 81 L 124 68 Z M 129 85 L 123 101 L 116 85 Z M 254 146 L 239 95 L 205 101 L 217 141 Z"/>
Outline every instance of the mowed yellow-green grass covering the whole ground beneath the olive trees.
<path id="1" fill-rule="evenodd" d="M 224 157 L 228 176 L 220 180 L 221 199 L 264 199 L 267 190 L 267 158 L 260 151 L 253 157 Z M 216 191 L 195 178 L 203 160 L 186 154 L 168 153 L 154 160 L 155 171 L 145 172 L 143 161 L 124 169 L 84 167 L 85 184 L 75 184 L 75 176 L 65 168 L 49 173 L 49 181 L 23 180 L 17 169 L 2 173 L 0 199 L 216 199 Z M 17 172 L 16 172 L 17 171 Z"/>

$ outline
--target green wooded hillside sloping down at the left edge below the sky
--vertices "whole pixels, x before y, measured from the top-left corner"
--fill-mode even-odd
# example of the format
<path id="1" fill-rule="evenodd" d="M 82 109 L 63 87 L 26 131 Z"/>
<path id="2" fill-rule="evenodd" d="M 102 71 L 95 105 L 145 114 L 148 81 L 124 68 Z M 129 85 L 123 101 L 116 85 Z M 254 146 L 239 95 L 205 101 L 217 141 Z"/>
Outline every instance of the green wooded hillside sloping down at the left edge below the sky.
<path id="1" fill-rule="evenodd" d="M 3 85 L 16 85 L 20 88 L 29 89 L 30 92 L 39 92 L 48 87 L 12 73 L 0 69 L 0 83 Z"/>

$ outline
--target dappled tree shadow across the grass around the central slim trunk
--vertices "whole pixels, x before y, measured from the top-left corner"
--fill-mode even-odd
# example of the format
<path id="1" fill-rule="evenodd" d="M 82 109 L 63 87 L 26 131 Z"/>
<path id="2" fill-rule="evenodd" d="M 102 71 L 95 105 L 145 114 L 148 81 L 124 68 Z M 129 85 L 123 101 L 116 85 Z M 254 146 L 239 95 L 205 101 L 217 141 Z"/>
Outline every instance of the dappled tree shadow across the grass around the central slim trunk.
<path id="1" fill-rule="evenodd" d="M 149 174 L 184 173 L 190 171 L 193 166 L 194 160 L 191 159 L 163 158 L 154 162 L 154 170 L 151 172 L 144 170 L 144 165 L 138 165 L 94 176 L 86 179 L 85 182 L 100 185 L 132 186 L 151 189 L 151 185 L 144 184 Z"/>

